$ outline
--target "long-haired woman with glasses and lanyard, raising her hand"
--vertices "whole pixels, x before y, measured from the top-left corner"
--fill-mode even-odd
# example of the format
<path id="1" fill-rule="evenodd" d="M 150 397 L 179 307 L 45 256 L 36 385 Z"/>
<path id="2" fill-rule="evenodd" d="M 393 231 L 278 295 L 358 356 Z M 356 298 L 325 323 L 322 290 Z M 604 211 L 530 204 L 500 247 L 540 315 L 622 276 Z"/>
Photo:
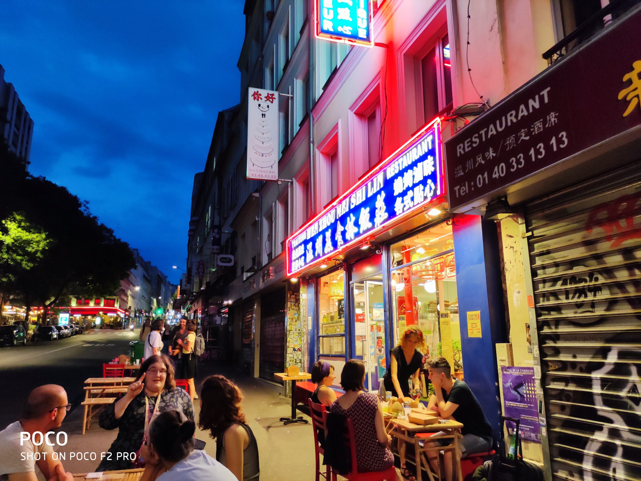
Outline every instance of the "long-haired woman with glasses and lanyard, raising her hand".
<path id="1" fill-rule="evenodd" d="M 100 415 L 101 428 L 119 428 L 119 431 L 96 471 L 130 469 L 134 464 L 140 466 L 140 459 L 131 460 L 130 455 L 123 459 L 122 453 L 138 452 L 151 420 L 160 412 L 172 409 L 194 420 L 194 404 L 185 389 L 176 387 L 169 357 L 153 355 L 142 363 L 137 379 L 129 384 L 127 392 Z"/>

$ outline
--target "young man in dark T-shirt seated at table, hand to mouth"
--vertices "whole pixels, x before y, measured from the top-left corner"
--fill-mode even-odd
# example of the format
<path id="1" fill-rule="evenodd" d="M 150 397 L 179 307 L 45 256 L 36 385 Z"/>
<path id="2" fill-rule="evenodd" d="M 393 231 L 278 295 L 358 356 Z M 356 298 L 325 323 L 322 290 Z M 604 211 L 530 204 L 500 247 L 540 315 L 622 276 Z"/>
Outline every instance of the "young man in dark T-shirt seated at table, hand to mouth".
<path id="1" fill-rule="evenodd" d="M 458 440 L 461 457 L 492 450 L 492 427 L 483 414 L 481 405 L 465 382 L 452 379 L 451 367 L 444 357 L 434 357 L 426 363 L 429 380 L 434 386 L 434 395 L 429 399 L 428 409 L 437 411 L 440 418 L 452 418 L 463 424 Z M 448 439 L 433 444 L 450 444 Z M 429 462 L 437 469 L 437 451 L 429 451 Z M 445 452 L 445 479 L 453 479 L 452 453 Z"/>

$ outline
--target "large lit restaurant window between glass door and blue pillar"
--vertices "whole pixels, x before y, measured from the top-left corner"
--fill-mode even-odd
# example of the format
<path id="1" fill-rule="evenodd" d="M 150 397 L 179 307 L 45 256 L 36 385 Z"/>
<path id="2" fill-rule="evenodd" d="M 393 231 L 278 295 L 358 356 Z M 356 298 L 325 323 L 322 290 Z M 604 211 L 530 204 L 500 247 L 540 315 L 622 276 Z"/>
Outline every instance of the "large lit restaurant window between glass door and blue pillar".
<path id="1" fill-rule="evenodd" d="M 395 343 L 418 325 L 429 355 L 444 356 L 463 379 L 452 227 L 440 224 L 397 242 L 390 258 Z"/>

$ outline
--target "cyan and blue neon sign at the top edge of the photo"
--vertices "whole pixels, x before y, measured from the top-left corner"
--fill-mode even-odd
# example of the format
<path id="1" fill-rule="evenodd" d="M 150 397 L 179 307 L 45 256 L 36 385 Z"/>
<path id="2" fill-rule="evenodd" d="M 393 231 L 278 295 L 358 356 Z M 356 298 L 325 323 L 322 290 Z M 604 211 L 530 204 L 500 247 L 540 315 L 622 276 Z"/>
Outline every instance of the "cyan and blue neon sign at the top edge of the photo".
<path id="1" fill-rule="evenodd" d="M 315 0 L 316 37 L 372 47 L 372 0 Z"/>

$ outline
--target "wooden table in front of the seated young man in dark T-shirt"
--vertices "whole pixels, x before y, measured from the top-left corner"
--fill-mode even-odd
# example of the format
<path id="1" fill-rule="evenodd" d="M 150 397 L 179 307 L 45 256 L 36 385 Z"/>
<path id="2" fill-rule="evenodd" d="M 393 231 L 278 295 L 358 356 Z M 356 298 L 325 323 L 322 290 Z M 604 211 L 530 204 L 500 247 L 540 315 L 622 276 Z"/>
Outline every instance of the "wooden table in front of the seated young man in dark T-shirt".
<path id="1" fill-rule="evenodd" d="M 410 421 L 408 420 L 403 420 L 398 418 L 392 418 L 389 422 L 393 426 L 392 431 L 390 432 L 391 436 L 395 436 L 398 439 L 401 439 L 403 441 L 406 441 L 407 443 L 414 445 L 417 481 L 422 481 L 422 475 L 420 472 L 421 463 L 425 465 L 425 469 L 428 472 L 430 481 L 435 481 L 432 475 L 431 466 L 429 465 L 429 461 L 425 455 L 429 451 L 453 452 L 453 462 L 454 462 L 454 465 L 456 466 L 456 479 L 458 479 L 458 481 L 463 481 L 463 473 L 461 471 L 461 459 L 460 459 L 460 456 L 458 455 L 459 453 L 458 437 L 460 436 L 460 434 L 458 434 L 458 430 L 460 430 L 460 428 L 463 427 L 462 423 L 459 423 L 458 421 L 454 421 L 454 420 L 448 420 L 447 423 L 437 423 L 437 424 L 431 424 L 428 426 L 420 426 L 414 423 L 410 423 Z M 420 432 L 440 432 L 440 431 L 442 431 L 444 434 L 438 434 L 438 435 L 424 437 L 424 438 L 419 438 L 416 436 L 416 434 Z M 433 441 L 439 441 L 441 439 L 451 439 L 452 444 L 449 444 L 449 446 L 424 445 L 421 448 L 419 444 L 419 441 L 421 439 L 424 441 L 424 444 L 432 443 Z M 403 461 L 405 460 L 401 459 L 401 465 L 403 464 Z"/>

